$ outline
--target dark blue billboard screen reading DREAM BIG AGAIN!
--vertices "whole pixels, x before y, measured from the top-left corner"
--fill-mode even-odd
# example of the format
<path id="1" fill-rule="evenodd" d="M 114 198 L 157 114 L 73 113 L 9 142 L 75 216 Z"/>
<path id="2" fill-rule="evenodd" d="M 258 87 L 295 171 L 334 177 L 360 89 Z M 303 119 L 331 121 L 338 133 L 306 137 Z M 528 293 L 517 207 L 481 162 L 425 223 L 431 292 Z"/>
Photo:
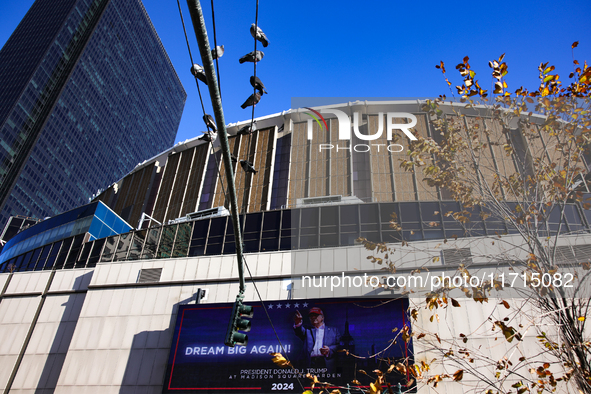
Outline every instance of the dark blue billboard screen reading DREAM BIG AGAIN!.
<path id="1" fill-rule="evenodd" d="M 164 393 L 301 393 L 310 387 L 307 373 L 335 386 L 354 379 L 369 386 L 374 380 L 359 370 L 412 359 L 412 343 L 401 336 L 392 343 L 409 326 L 407 299 L 265 301 L 272 325 L 260 303 L 245 304 L 254 307 L 248 344 L 233 348 L 224 345 L 231 303 L 179 307 Z M 269 353 L 284 354 L 293 367 L 275 365 Z M 388 376 L 403 385 L 408 378 Z"/>

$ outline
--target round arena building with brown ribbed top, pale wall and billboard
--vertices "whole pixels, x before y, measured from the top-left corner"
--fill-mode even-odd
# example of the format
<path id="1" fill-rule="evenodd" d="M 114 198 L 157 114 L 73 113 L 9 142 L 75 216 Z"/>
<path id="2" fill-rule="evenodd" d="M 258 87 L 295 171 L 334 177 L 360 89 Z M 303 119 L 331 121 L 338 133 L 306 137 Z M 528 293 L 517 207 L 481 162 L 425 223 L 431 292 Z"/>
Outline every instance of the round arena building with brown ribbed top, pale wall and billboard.
<path id="1" fill-rule="evenodd" d="M 321 381 L 369 385 L 357 369 L 384 367 L 384 358 L 436 357 L 420 341 L 388 346 L 393 329 L 412 330 L 407 309 L 413 299 L 368 284 L 371 277 L 382 281 L 384 271 L 357 239 L 419 245 L 397 248 L 391 257 L 397 273 L 408 275 L 417 267 L 454 272 L 459 264 L 478 265 L 478 255 L 500 253 L 487 236 L 507 233 L 505 239 L 522 241 L 504 221 L 483 219 L 480 208 L 470 208 L 467 224 L 446 216 L 463 207 L 426 185 L 420 172 L 400 168 L 410 136 L 434 134 L 421 105 L 358 101 L 300 108 L 258 118 L 251 135 L 238 134 L 246 122 L 228 126 L 231 153 L 257 171 L 237 165 L 234 172 L 248 265 L 245 302 L 254 306 L 247 346 L 224 346 L 238 271 L 218 145 L 196 138 L 179 143 L 137 165 L 90 204 L 21 231 L 0 255 L 0 387 L 11 393 L 302 392 L 310 386 L 308 371 Z M 451 105 L 441 108 L 456 116 Z M 465 121 L 489 128 L 491 139 L 512 138 L 521 153 L 546 149 L 542 138 L 527 139 L 519 130 L 508 137 L 475 115 L 466 113 Z M 347 121 L 353 132 L 343 139 L 338 125 Z M 410 135 L 400 130 L 415 122 Z M 380 129 L 379 137 L 365 137 Z M 499 166 L 519 165 L 502 146 L 491 145 L 489 155 Z M 390 225 L 393 213 L 402 229 Z M 561 228 L 583 235 L 561 238 L 566 258 L 588 258 L 590 219 L 579 205 L 567 207 Z M 550 219 L 554 233 L 560 220 Z M 438 329 L 440 338 L 475 332 L 474 341 L 502 358 L 505 344 L 492 346 L 478 331 L 489 307 L 457 308 L 453 324 Z M 308 327 L 312 308 L 338 332 L 330 362 L 320 366 L 294 332 L 294 316 L 299 312 Z M 524 344 L 536 341 L 528 335 Z M 273 364 L 268 353 L 274 352 L 286 354 L 295 369 Z M 429 392 L 410 380 L 402 373 L 392 378 L 403 389 Z M 477 384 L 464 380 L 466 386 L 439 388 L 460 393 Z"/>

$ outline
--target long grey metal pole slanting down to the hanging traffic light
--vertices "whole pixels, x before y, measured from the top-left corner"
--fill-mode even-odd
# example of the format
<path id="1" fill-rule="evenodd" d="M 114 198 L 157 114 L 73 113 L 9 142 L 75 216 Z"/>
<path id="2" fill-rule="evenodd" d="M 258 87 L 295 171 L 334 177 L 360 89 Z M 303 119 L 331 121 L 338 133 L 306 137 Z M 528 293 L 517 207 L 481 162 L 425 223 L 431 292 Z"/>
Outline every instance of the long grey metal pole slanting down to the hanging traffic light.
<path id="1" fill-rule="evenodd" d="M 201 54 L 201 61 L 203 62 L 203 69 L 207 76 L 207 87 L 209 88 L 209 96 L 211 97 L 211 105 L 215 122 L 218 127 L 218 138 L 222 146 L 222 157 L 224 160 L 224 167 L 226 169 L 226 180 L 228 185 L 228 195 L 230 197 L 230 214 L 232 216 L 232 224 L 234 225 L 234 242 L 236 243 L 236 258 L 238 259 L 238 276 L 240 279 L 240 294 L 244 294 L 244 267 L 243 267 L 243 250 L 242 250 L 242 234 L 240 232 L 240 222 L 238 216 L 238 203 L 236 201 L 236 186 L 234 185 L 234 176 L 232 168 L 232 159 L 230 158 L 230 144 L 228 143 L 228 132 L 226 131 L 226 122 L 224 120 L 224 111 L 222 109 L 222 96 L 218 87 L 217 75 L 213 66 L 213 58 L 209 47 L 209 40 L 207 38 L 207 30 L 205 29 L 205 21 L 203 19 L 203 11 L 199 0 L 187 0 L 189 6 L 189 13 L 191 14 L 191 21 L 193 22 L 193 29 L 199 44 L 199 53 Z"/>

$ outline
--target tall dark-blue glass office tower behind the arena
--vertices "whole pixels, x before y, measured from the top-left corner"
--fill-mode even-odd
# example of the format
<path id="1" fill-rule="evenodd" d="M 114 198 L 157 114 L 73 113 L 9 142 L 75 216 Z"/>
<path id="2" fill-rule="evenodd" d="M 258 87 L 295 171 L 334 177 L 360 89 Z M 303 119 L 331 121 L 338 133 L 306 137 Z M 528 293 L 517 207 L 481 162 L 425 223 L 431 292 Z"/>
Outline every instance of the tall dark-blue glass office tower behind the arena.
<path id="1" fill-rule="evenodd" d="M 140 0 L 36 0 L 0 51 L 0 229 L 174 143 L 186 93 Z"/>

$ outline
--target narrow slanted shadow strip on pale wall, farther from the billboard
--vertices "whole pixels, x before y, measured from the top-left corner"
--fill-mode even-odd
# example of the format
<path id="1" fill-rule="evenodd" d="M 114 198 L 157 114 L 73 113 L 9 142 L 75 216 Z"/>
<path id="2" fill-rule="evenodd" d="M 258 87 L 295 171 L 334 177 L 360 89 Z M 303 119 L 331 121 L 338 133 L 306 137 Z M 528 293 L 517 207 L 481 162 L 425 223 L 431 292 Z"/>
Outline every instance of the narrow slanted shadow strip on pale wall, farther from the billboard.
<path id="1" fill-rule="evenodd" d="M 76 278 L 73 286 L 74 289 L 80 288 L 83 283 L 90 283 L 91 277 L 92 272 L 88 272 Z M 51 294 L 47 296 L 45 307 L 48 306 L 47 301 L 50 301 L 51 297 Z M 61 304 L 62 307 L 65 307 L 64 313 L 55 333 L 53 343 L 49 348 L 49 353 L 41 371 L 35 394 L 48 394 L 55 391 L 57 381 L 64 366 L 66 354 L 70 348 L 70 342 L 72 342 L 76 323 L 80 317 L 82 305 L 84 305 L 85 297 L 86 293 L 72 294 L 68 296 L 68 300 L 65 303 Z M 33 335 L 35 335 L 35 332 L 33 332 Z"/>

